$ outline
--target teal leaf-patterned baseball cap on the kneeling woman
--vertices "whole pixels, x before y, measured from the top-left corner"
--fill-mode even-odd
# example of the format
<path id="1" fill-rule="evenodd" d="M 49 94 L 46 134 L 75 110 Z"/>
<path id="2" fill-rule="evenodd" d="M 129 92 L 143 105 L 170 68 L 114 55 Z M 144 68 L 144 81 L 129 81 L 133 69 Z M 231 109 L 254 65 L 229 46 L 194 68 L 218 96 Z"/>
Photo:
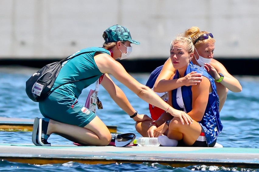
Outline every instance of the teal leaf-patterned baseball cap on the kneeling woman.
<path id="1" fill-rule="evenodd" d="M 106 42 L 130 41 L 133 44 L 140 45 L 139 41 L 131 38 L 129 29 L 121 25 L 113 25 L 104 32 L 108 35 L 108 38 L 105 39 Z"/>

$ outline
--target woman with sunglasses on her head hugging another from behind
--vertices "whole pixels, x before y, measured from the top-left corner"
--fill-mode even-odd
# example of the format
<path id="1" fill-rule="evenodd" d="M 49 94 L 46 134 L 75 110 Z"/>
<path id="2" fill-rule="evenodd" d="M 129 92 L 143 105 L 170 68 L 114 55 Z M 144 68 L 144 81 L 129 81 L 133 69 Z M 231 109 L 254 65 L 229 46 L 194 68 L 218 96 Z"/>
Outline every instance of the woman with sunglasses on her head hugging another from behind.
<path id="1" fill-rule="evenodd" d="M 205 68 L 216 81 L 217 94 L 219 95 L 219 111 L 221 111 L 226 101 L 228 90 L 240 92 L 242 91 L 242 86 L 219 61 L 213 58 L 215 39 L 212 33 L 200 31 L 198 27 L 193 26 L 187 29 L 184 35 L 185 37 L 190 37 L 195 46 L 194 58 L 192 58 L 193 64 Z M 155 76 L 150 76 L 153 80 L 157 77 L 154 83 L 154 91 L 159 93 L 166 92 L 183 85 L 197 85 L 202 79 L 199 73 L 191 72 L 184 78 L 170 80 L 170 78 L 172 78 L 175 74 L 175 68 L 173 67 L 170 58 L 167 59 L 163 67 L 160 67 L 159 70 L 161 70 L 161 72 L 157 71 Z M 159 111 L 159 108 L 157 109 Z M 153 109 L 151 109 L 150 112 L 152 112 L 152 110 Z M 158 117 L 161 115 L 161 110 L 160 114 L 153 115 L 157 115 Z"/>

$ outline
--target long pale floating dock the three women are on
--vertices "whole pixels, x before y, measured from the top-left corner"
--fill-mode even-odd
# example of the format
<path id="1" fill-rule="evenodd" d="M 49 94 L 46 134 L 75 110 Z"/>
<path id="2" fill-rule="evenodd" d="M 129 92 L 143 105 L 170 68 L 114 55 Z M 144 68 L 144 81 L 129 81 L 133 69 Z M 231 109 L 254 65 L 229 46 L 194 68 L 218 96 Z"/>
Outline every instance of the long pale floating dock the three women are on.
<path id="1" fill-rule="evenodd" d="M 72 143 L 71 143 L 72 144 Z M 56 164 L 74 161 L 84 164 L 159 163 L 172 167 L 215 165 L 259 168 L 259 149 L 217 147 L 114 147 L 0 144 L 0 159 L 29 163 Z"/>

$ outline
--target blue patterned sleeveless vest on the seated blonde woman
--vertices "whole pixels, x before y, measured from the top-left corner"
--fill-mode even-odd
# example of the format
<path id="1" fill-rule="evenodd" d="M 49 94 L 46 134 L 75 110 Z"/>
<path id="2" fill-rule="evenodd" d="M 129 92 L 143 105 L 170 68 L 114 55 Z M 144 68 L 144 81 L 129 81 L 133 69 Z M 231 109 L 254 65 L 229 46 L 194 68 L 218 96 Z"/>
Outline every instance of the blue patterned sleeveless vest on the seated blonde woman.
<path id="1" fill-rule="evenodd" d="M 219 96 L 216 92 L 215 82 L 212 76 L 208 74 L 207 71 L 205 71 L 198 65 L 194 65 L 192 62 L 190 62 L 190 64 L 187 66 L 184 76 L 186 74 L 189 74 L 192 71 L 197 71 L 197 73 L 201 73 L 202 76 L 205 76 L 206 78 L 209 79 L 212 85 L 212 92 L 209 93 L 209 100 L 205 109 L 204 116 L 202 117 L 201 121 L 197 121 L 202 126 L 205 133 L 206 142 L 209 145 L 216 140 L 216 138 L 221 133 L 223 128 L 223 125 L 221 124 L 221 121 L 219 118 Z M 178 79 L 178 78 L 179 78 L 179 72 L 178 70 L 176 70 L 176 73 L 173 79 Z M 183 111 L 183 109 L 180 108 L 176 102 L 176 92 L 177 92 L 177 89 L 172 90 L 172 105 L 175 109 Z M 181 92 L 182 92 L 182 98 L 185 105 L 185 109 L 186 109 L 186 112 L 188 113 L 192 110 L 192 86 L 182 86 Z"/>

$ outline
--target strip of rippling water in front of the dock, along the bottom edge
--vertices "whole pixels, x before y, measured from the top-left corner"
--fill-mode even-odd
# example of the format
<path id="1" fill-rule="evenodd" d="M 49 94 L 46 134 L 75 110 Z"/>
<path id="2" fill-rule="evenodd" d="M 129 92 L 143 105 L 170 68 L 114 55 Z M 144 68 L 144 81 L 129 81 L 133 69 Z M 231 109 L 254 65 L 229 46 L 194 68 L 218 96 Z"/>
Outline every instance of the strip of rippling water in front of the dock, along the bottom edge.
<path id="1" fill-rule="evenodd" d="M 218 167 L 218 166 L 206 166 L 206 165 L 195 165 L 184 168 L 171 167 L 168 165 L 161 165 L 158 163 L 142 163 L 142 164 L 131 164 L 131 163 L 114 163 L 114 164 L 81 164 L 76 162 L 67 162 L 64 164 L 45 164 L 45 165 L 34 165 L 25 163 L 13 163 L 9 161 L 0 161 L 0 171 L 89 171 L 89 172 L 100 172 L 100 171 L 136 171 L 136 172 L 166 172 L 166 171 L 242 171 L 242 172 L 258 172 L 259 169 L 252 168 L 240 168 L 240 167 Z"/>

